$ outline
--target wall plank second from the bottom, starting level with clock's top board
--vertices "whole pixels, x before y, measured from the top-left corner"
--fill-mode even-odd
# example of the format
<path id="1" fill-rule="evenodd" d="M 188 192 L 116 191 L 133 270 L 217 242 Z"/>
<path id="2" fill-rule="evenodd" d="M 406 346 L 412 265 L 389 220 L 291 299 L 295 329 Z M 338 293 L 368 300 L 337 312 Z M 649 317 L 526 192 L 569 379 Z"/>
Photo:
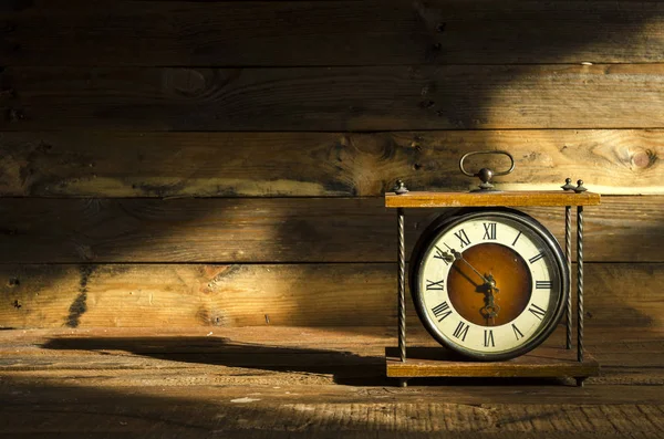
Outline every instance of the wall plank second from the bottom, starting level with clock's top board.
<path id="1" fill-rule="evenodd" d="M 396 216 L 381 198 L 0 200 L 0 263 L 393 262 Z M 664 197 L 585 209 L 585 260 L 662 262 Z M 527 208 L 559 239 L 564 209 Z M 438 213 L 440 211 L 437 211 Z M 435 209 L 406 218 L 409 249 Z"/>

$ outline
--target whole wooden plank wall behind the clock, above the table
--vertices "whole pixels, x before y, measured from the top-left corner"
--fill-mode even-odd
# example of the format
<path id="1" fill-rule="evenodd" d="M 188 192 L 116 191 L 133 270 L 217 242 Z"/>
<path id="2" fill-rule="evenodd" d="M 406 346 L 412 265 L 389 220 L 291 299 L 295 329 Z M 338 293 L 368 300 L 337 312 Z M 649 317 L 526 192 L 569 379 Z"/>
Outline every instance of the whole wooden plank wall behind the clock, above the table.
<path id="1" fill-rule="evenodd" d="M 382 194 L 485 148 L 605 195 L 589 323 L 664 325 L 661 2 L 12 0 L 0 40 L 0 327 L 392 325 Z"/>

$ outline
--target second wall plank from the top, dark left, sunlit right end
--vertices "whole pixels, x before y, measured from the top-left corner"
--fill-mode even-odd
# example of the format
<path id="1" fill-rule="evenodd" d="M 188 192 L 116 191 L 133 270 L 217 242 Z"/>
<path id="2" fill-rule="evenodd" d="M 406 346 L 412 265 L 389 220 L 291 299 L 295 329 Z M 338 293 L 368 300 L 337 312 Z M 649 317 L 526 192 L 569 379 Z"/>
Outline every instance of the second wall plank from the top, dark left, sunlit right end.
<path id="1" fill-rule="evenodd" d="M 664 64 L 7 67 L 2 130 L 656 128 Z"/>

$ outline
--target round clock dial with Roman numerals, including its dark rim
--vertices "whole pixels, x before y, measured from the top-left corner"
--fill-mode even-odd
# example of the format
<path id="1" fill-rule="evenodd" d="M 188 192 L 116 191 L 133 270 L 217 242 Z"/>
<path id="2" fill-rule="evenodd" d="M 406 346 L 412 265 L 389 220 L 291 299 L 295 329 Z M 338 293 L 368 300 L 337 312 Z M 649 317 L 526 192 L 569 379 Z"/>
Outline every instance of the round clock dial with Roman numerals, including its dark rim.
<path id="1" fill-rule="evenodd" d="M 478 359 L 506 359 L 549 336 L 569 284 L 551 233 L 505 209 L 432 224 L 414 252 L 411 291 L 421 320 L 443 345 Z"/>

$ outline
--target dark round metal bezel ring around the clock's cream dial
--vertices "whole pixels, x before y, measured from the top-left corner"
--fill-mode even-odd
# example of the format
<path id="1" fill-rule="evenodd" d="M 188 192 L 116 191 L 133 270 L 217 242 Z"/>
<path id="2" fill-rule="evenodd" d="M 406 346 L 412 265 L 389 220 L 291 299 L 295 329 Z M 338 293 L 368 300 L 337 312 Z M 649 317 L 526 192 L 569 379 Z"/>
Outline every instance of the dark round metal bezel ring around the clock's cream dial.
<path id="1" fill-rule="evenodd" d="M 557 304 L 557 309 L 554 310 L 553 317 L 549 321 L 548 325 L 544 326 L 531 337 L 527 343 L 520 345 L 519 347 L 501 352 L 501 353 L 478 353 L 474 349 L 465 348 L 458 344 L 450 343 L 447 337 L 445 337 L 437 328 L 435 323 L 432 321 L 428 315 L 425 303 L 423 300 L 423 292 L 419 290 L 419 273 L 422 272 L 424 264 L 424 257 L 427 254 L 428 249 L 434 243 L 436 238 L 444 233 L 445 230 L 455 227 L 460 222 L 466 222 L 469 220 L 474 220 L 477 218 L 483 218 L 487 216 L 501 217 L 506 219 L 510 219 L 512 221 L 519 222 L 522 226 L 530 228 L 539 238 L 541 238 L 544 244 L 550 249 L 554 259 L 554 266 L 558 270 L 558 275 L 560 279 L 560 300 Z M 453 212 L 440 215 L 436 218 L 419 236 L 415 248 L 413 249 L 412 258 L 411 258 L 411 270 L 409 270 L 409 286 L 411 286 L 411 296 L 413 299 L 413 303 L 415 304 L 415 311 L 419 317 L 419 321 L 427 330 L 427 332 L 443 346 L 452 349 L 453 352 L 459 353 L 467 358 L 483 360 L 483 362 L 495 362 L 495 360 L 504 360 L 509 358 L 515 358 L 521 356 L 537 346 L 539 346 L 544 339 L 547 339 L 556 327 L 560 323 L 562 315 L 564 313 L 566 304 L 568 301 L 568 296 L 570 294 L 570 281 L 569 281 L 569 270 L 566 263 L 566 258 L 563 255 L 562 249 L 560 244 L 556 240 L 556 237 L 539 221 L 537 221 L 531 216 L 516 209 L 502 208 L 502 207 L 494 207 L 494 208 L 461 208 L 456 209 Z"/>

